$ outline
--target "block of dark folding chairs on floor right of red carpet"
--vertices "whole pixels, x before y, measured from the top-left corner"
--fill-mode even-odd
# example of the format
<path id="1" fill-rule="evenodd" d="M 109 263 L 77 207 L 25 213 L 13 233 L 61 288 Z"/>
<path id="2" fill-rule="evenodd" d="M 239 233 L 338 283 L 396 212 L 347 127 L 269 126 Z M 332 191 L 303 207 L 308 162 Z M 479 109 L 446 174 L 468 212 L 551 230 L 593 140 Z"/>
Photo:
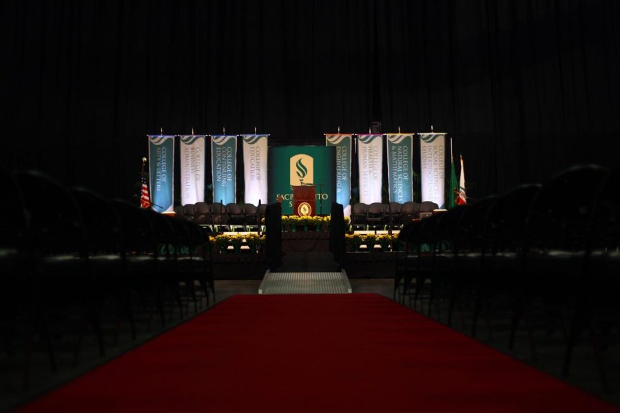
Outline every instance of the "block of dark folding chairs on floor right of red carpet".
<path id="1" fill-rule="evenodd" d="M 441 301 L 448 324 L 466 304 L 473 336 L 481 315 L 492 331 L 493 317 L 509 314 L 510 348 L 524 326 L 534 359 L 540 323 L 562 326 L 564 374 L 587 331 L 606 385 L 601 350 L 620 332 L 617 182 L 620 169 L 577 166 L 546 184 L 407 224 L 399 234 L 395 298 L 429 315 Z"/>

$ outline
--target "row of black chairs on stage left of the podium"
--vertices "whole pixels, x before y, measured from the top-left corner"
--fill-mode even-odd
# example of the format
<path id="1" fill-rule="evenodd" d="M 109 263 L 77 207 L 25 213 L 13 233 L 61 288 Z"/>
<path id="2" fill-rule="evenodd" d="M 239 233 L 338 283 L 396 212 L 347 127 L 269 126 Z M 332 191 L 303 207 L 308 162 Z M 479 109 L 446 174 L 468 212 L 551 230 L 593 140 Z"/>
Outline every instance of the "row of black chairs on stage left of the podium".
<path id="1" fill-rule="evenodd" d="M 196 204 L 179 205 L 174 209 L 178 218 L 195 222 L 212 231 L 260 231 L 260 222 L 265 218 L 267 204 L 258 206 L 249 203 L 225 204 L 215 202 L 196 202 Z"/>

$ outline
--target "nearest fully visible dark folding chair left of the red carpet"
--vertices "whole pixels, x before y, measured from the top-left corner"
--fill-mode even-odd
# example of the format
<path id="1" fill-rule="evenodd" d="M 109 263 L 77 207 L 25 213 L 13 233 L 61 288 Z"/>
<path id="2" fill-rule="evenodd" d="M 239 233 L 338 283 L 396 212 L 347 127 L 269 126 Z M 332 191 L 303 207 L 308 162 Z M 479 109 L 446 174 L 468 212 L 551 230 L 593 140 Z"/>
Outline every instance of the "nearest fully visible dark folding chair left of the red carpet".
<path id="1" fill-rule="evenodd" d="M 79 334 L 90 323 L 99 353 L 105 355 L 103 332 L 97 312 L 101 292 L 90 268 L 83 217 L 76 201 L 60 184 L 37 171 L 14 173 L 32 222 L 32 247 L 40 255 L 35 275 L 41 311 L 52 320 L 58 335 L 72 328 L 71 315 L 84 321 L 75 326 Z M 43 204 L 41 200 L 45 200 Z M 38 312 L 39 310 L 37 310 Z M 81 340 L 75 343 L 77 362 Z"/>

